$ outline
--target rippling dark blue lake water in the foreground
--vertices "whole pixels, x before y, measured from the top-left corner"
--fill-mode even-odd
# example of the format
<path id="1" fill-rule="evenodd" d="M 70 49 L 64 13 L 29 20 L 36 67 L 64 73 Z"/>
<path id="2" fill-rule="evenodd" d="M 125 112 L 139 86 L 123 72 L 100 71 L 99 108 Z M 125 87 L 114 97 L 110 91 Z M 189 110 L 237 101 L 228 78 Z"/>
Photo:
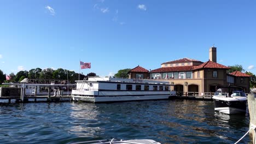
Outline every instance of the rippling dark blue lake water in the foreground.
<path id="1" fill-rule="evenodd" d="M 73 143 L 152 139 L 161 143 L 235 143 L 249 116 L 214 112 L 213 101 L 112 104 L 26 103 L 0 106 L 0 143 Z M 247 135 L 240 143 L 252 143 Z"/>

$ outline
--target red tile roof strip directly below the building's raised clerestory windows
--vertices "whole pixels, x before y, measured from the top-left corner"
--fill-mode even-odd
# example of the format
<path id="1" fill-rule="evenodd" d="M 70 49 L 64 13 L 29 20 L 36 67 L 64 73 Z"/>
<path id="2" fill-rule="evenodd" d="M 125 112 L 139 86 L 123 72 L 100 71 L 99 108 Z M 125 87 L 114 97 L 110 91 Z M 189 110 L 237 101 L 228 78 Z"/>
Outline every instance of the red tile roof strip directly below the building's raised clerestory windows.
<path id="1" fill-rule="evenodd" d="M 182 67 L 164 67 L 159 69 L 154 69 L 149 73 L 164 73 L 164 72 L 174 72 L 174 71 L 191 71 L 193 66 L 182 66 Z"/>

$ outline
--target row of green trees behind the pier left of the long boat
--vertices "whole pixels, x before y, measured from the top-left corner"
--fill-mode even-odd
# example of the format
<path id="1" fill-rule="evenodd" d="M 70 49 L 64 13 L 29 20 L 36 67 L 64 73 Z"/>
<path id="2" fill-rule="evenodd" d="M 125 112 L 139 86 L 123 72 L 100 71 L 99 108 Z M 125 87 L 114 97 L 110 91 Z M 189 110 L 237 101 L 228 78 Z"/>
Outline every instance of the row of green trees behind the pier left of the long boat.
<path id="1" fill-rule="evenodd" d="M 10 80 L 6 80 L 6 75 L 3 74 L 3 71 L 0 70 L 0 84 L 3 82 L 20 82 L 25 78 L 28 79 L 46 79 L 46 80 L 67 80 L 70 83 L 74 83 L 76 80 L 79 79 L 79 74 L 75 73 L 71 70 L 66 69 L 40 69 L 35 68 L 31 69 L 29 71 L 27 70 L 21 70 L 16 75 L 14 73 L 10 73 Z M 80 74 L 80 80 L 83 80 L 84 78 L 87 78 L 88 76 L 96 76 L 95 73 L 89 73 L 87 75 L 84 75 L 83 73 Z"/>

